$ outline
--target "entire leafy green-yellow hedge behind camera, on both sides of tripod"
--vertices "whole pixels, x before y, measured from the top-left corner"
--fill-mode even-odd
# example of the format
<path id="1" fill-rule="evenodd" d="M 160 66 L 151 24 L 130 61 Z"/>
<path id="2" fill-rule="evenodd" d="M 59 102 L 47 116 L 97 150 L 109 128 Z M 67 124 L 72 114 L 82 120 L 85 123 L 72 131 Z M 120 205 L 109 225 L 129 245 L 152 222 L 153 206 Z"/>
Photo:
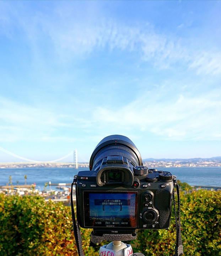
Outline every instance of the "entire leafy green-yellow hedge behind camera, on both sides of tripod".
<path id="1" fill-rule="evenodd" d="M 221 256 L 221 192 L 182 194 L 182 238 L 186 256 Z M 81 229 L 85 256 L 96 256 L 100 245 Z M 176 226 L 172 213 L 167 230 L 138 230 L 131 241 L 145 256 L 173 256 Z M 105 242 L 104 242 L 105 243 Z M 77 256 L 70 207 L 39 196 L 0 194 L 0 256 Z"/>

